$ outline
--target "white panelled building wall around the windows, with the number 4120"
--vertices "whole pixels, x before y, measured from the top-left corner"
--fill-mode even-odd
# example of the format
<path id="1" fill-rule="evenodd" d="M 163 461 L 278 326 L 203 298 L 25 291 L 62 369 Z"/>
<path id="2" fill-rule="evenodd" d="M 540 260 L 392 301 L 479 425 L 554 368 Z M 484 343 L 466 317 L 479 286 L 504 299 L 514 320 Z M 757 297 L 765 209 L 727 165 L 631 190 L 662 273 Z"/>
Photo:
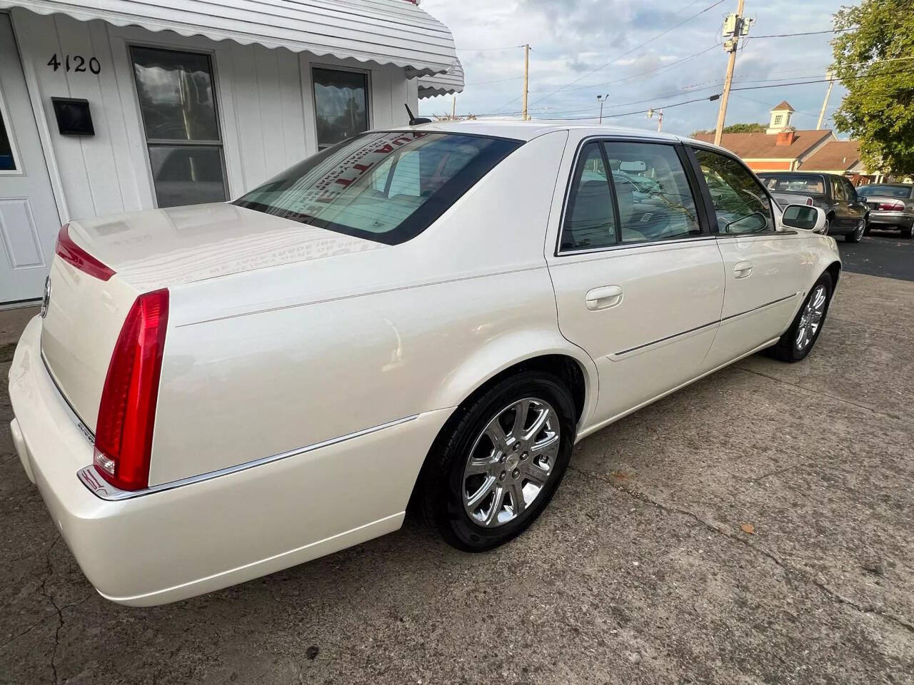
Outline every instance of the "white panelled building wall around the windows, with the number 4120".
<path id="1" fill-rule="evenodd" d="M 29 97 L 36 114 L 61 221 L 155 206 L 143 123 L 133 83 L 131 45 L 170 47 L 211 55 L 228 191 L 237 197 L 317 152 L 312 66 L 356 68 L 369 73 L 373 128 L 407 122 L 403 103 L 418 111 L 417 81 L 392 65 L 308 53 L 242 46 L 232 41 L 182 37 L 69 16 L 11 13 Z M 98 59 L 101 71 L 55 70 L 57 55 Z M 90 102 L 95 135 L 58 133 L 52 97 Z"/>

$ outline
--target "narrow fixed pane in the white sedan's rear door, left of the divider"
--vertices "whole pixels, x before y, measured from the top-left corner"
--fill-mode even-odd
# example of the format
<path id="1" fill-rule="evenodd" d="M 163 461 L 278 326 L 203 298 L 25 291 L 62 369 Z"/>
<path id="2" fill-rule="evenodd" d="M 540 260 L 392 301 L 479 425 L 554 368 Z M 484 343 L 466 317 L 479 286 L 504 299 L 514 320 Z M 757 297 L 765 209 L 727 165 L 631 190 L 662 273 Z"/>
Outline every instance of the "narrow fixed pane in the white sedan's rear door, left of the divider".
<path id="1" fill-rule="evenodd" d="M 606 248 L 619 242 L 609 174 L 599 142 L 580 152 L 562 226 L 562 250 Z"/>

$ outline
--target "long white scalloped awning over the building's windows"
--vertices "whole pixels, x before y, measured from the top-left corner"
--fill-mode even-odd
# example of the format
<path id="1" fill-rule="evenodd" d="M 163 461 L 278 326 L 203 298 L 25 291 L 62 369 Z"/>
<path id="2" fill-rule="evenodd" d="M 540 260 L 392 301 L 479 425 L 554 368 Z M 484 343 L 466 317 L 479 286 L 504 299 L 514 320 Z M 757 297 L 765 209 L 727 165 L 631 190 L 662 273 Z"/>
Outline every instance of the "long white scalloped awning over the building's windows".
<path id="1" fill-rule="evenodd" d="M 411 0 L 0 0 L 10 7 L 393 64 L 409 78 L 445 72 L 457 58 L 451 30 Z"/>

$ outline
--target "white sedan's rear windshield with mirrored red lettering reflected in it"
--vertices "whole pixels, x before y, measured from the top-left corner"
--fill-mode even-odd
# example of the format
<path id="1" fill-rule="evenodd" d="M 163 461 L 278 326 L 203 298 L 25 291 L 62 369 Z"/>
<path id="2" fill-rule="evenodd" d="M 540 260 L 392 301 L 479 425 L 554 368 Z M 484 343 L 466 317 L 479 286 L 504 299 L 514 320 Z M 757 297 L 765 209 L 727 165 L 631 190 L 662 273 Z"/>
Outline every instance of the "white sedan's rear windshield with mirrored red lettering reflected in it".
<path id="1" fill-rule="evenodd" d="M 520 144 L 461 133 L 365 133 L 292 166 L 235 204 L 396 245 L 418 236 Z"/>

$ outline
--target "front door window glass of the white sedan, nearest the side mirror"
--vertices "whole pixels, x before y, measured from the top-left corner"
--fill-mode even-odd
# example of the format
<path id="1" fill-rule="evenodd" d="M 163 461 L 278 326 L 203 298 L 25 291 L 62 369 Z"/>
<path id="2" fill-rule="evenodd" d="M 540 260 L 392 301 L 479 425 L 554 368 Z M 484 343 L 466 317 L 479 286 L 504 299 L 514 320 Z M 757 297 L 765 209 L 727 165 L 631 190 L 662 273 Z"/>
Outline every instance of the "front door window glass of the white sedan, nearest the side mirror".
<path id="1" fill-rule="evenodd" d="M 709 150 L 696 150 L 695 156 L 717 214 L 718 232 L 775 230 L 768 195 L 746 167 L 732 157 Z"/>

